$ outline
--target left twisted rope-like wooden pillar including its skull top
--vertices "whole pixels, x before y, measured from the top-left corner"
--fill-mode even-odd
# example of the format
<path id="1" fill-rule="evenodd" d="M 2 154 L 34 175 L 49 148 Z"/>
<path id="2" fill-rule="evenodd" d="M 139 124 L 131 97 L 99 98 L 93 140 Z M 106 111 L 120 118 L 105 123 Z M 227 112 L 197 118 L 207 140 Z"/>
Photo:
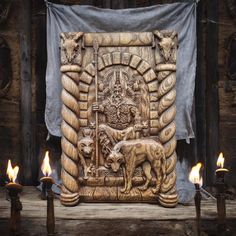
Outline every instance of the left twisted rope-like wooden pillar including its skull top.
<path id="1" fill-rule="evenodd" d="M 62 193 L 61 203 L 74 206 L 79 201 L 78 130 L 79 73 L 81 71 L 83 33 L 61 34 L 62 39 Z"/>

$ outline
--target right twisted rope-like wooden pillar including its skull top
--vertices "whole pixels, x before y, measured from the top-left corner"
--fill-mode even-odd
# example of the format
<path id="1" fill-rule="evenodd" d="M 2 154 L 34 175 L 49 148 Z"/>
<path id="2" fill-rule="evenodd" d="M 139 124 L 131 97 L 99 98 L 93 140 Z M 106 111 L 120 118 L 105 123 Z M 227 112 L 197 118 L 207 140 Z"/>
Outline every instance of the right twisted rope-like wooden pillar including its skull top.
<path id="1" fill-rule="evenodd" d="M 154 31 L 156 71 L 158 72 L 159 139 L 166 156 L 166 179 L 162 183 L 159 202 L 174 207 L 178 202 L 176 193 L 176 49 L 177 34 L 172 31 Z M 161 57 L 160 57 L 161 55 Z"/>

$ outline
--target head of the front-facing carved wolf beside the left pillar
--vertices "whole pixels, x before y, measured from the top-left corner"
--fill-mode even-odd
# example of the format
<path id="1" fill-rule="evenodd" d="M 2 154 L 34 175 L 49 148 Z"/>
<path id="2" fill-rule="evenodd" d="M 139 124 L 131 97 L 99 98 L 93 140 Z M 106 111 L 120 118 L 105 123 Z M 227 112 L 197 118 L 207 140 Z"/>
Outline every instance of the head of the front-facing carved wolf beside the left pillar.
<path id="1" fill-rule="evenodd" d="M 91 129 L 83 130 L 84 137 L 78 141 L 78 151 L 83 157 L 91 158 L 94 151 L 93 131 Z"/>

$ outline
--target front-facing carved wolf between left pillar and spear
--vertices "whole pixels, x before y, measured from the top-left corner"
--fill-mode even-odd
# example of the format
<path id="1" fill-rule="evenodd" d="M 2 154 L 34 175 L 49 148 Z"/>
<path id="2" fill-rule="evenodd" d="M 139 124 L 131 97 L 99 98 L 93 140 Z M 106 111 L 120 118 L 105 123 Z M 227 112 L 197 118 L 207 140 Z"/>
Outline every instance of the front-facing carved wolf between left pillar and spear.
<path id="1" fill-rule="evenodd" d="M 78 153 L 79 153 L 79 159 L 80 163 L 83 166 L 84 170 L 84 179 L 88 179 L 88 173 L 91 172 L 91 167 L 93 163 L 93 157 L 94 157 L 94 134 L 93 131 L 89 128 L 86 128 L 83 130 L 83 138 L 81 138 L 78 143 Z M 85 158 L 91 159 L 91 164 L 88 167 L 85 161 Z"/>

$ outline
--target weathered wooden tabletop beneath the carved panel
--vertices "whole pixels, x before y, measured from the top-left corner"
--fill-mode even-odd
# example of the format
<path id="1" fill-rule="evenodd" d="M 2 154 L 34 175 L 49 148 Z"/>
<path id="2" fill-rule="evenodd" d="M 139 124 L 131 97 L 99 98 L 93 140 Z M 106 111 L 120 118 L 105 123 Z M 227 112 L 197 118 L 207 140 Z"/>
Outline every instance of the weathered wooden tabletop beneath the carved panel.
<path id="1" fill-rule="evenodd" d="M 39 198 L 40 192 L 35 187 L 24 187 L 21 194 L 22 217 L 45 218 L 46 201 Z M 140 219 L 140 220 L 191 220 L 195 219 L 195 206 L 178 205 L 176 208 L 164 208 L 146 203 L 80 203 L 76 207 L 64 207 L 58 199 L 54 201 L 57 219 L 109 220 L 109 219 Z M 227 218 L 236 219 L 236 201 L 227 201 Z M 216 201 L 202 201 L 202 218 L 216 219 Z M 0 188 L 0 218 L 10 215 L 10 202 L 6 200 L 5 188 Z"/>

